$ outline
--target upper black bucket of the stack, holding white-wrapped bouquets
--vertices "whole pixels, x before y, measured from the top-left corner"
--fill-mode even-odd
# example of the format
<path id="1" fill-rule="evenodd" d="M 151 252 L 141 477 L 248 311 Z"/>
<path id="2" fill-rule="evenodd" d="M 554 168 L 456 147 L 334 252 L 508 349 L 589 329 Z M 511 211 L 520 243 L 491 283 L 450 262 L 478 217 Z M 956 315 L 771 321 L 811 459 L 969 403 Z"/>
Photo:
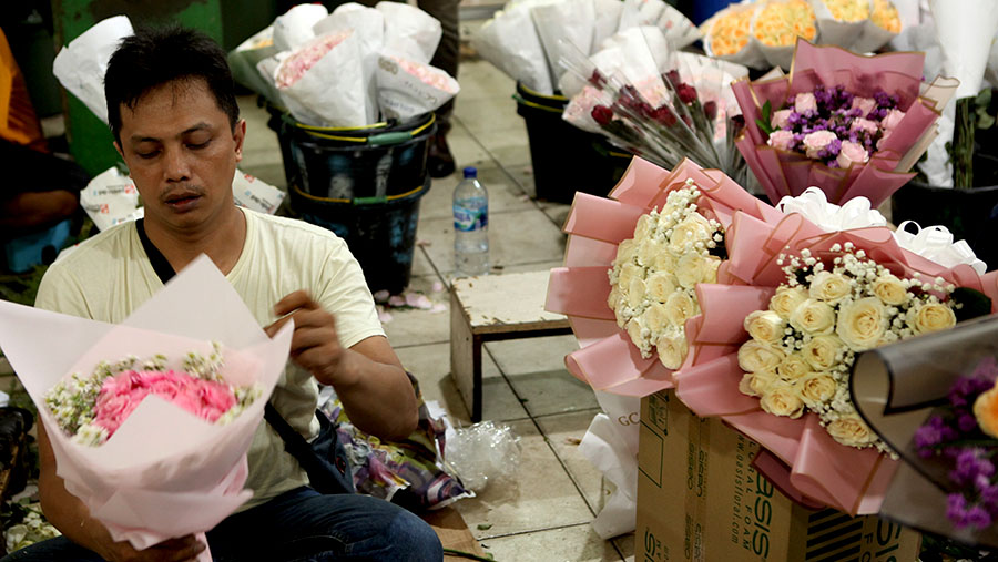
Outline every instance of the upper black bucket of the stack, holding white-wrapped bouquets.
<path id="1" fill-rule="evenodd" d="M 398 195 L 426 177 L 436 116 L 364 127 L 319 127 L 297 122 L 267 104 L 277 132 L 287 185 L 317 197 L 353 200 Z"/>

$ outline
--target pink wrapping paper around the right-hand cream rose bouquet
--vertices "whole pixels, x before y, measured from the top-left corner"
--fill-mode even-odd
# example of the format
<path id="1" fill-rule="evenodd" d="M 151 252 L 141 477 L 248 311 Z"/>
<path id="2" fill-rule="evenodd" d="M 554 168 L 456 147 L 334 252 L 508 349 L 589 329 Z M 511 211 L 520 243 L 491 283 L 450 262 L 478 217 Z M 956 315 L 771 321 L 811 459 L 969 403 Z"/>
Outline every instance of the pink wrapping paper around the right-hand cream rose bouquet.
<path id="1" fill-rule="evenodd" d="M 757 441 L 770 457 L 757 468 L 790 495 L 851 514 L 876 513 L 897 462 L 874 449 L 835 442 L 808 413 L 793 420 L 764 412 L 756 398 L 739 391 L 742 370 L 737 349 L 748 339 L 743 319 L 768 307 L 768 297 L 785 279 L 776 257 L 809 248 L 829 255 L 834 244 L 852 242 L 895 275 L 916 272 L 943 277 L 957 286 L 985 293 L 998 303 L 998 272 L 978 275 L 968 265 L 946 268 L 900 248 L 884 227 L 826 233 L 798 214 L 763 221 L 735 213 L 726 233 L 730 260 L 719 284 L 699 285 L 700 317 L 686 323 L 688 364 L 673 375 L 676 396 L 700 416 L 720 416 Z M 712 352 L 727 345 L 727 355 Z M 709 350 L 704 352 L 704 350 Z"/>

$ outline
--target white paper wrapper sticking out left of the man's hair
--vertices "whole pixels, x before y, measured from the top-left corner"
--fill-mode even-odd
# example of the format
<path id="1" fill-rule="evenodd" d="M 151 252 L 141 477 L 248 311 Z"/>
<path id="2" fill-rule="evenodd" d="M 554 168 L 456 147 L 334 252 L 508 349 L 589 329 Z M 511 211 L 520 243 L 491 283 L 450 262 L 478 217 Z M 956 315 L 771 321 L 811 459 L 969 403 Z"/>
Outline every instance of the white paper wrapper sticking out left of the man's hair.
<path id="1" fill-rule="evenodd" d="M 108 122 L 108 101 L 104 98 L 108 61 L 118 49 L 119 41 L 133 33 L 126 16 L 108 18 L 70 41 L 52 63 L 52 73 L 59 83 L 104 123 Z"/>

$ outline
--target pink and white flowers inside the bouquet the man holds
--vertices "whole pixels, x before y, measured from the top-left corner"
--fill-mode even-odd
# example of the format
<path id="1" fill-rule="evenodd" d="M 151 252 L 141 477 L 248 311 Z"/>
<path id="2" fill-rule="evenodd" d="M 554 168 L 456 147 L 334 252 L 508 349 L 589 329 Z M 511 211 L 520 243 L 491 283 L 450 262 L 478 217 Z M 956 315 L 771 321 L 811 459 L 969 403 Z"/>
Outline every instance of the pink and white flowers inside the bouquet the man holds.
<path id="1" fill-rule="evenodd" d="M 96 447 L 134 411 L 149 395 L 171 401 L 215 423 L 228 423 L 263 396 L 259 385 L 235 387 L 222 376 L 222 348 L 213 344 L 207 357 L 189 352 L 183 370 L 166 368 L 167 358 L 144 361 L 128 357 L 101 361 L 90 375 L 73 372 L 45 395 L 45 406 L 59 427 L 80 445 Z"/>

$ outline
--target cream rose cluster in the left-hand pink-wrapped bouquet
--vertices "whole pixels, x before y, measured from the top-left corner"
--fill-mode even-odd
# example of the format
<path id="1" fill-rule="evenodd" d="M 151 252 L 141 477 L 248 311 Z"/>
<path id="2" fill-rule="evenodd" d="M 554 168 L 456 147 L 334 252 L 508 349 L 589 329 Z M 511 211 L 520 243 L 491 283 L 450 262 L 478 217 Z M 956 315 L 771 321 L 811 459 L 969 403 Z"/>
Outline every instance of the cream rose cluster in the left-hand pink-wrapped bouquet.
<path id="1" fill-rule="evenodd" d="M 721 225 L 697 210 L 692 180 L 665 206 L 642 215 L 634 237 L 620 243 L 610 269 L 608 304 L 642 357 L 655 349 L 666 368 L 686 358 L 685 321 L 700 314 L 697 283 L 715 283 L 724 256 Z"/>

